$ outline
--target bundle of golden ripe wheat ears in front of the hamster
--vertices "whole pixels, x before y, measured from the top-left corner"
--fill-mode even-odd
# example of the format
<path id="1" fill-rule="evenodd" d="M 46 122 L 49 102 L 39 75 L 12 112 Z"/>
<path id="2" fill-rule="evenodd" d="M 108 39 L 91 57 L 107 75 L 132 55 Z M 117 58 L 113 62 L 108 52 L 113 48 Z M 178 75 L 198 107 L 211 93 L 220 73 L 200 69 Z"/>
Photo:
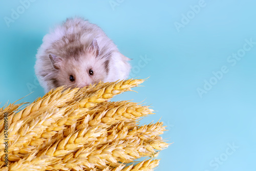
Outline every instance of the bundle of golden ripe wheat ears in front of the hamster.
<path id="1" fill-rule="evenodd" d="M 160 137 L 165 126 L 162 122 L 139 125 L 141 117 L 153 114 L 149 106 L 109 101 L 143 81 L 59 87 L 25 107 L 20 103 L 1 108 L 0 123 L 8 113 L 8 153 L 1 143 L 0 170 L 153 170 L 159 160 L 125 164 L 154 157 L 166 148 L 169 144 Z M 3 126 L 0 131 L 4 142 Z"/>

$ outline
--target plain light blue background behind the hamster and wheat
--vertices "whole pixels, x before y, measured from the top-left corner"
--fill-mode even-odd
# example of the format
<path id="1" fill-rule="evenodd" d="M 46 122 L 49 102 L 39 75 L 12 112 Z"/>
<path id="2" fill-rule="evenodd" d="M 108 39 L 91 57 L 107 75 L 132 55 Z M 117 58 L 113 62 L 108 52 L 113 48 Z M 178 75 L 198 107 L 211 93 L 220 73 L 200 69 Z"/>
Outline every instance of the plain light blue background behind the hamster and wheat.
<path id="1" fill-rule="evenodd" d="M 37 0 L 8 27 L 5 17 L 11 18 L 21 4 L 1 1 L 1 106 L 32 91 L 22 101 L 44 95 L 33 68 L 42 37 L 66 17 L 83 16 L 133 58 L 132 77 L 151 76 L 145 87 L 134 89 L 139 93 L 126 92 L 114 100 L 145 100 L 157 112 L 142 123 L 161 118 L 167 126 L 163 137 L 174 143 L 160 153 L 156 170 L 256 170 L 256 46 L 236 65 L 227 61 L 232 53 L 243 52 L 245 39 L 256 41 L 256 1 L 205 0 L 197 14 L 191 13 L 190 6 L 198 4 Z M 185 23 L 183 14 L 190 18 Z M 177 29 L 175 22 L 182 21 Z M 149 59 L 143 63 L 142 57 Z M 228 72 L 214 78 L 212 72 L 222 66 Z M 203 90 L 210 80 L 214 85 L 200 96 L 198 88 Z M 228 144 L 236 148 L 232 151 Z"/>

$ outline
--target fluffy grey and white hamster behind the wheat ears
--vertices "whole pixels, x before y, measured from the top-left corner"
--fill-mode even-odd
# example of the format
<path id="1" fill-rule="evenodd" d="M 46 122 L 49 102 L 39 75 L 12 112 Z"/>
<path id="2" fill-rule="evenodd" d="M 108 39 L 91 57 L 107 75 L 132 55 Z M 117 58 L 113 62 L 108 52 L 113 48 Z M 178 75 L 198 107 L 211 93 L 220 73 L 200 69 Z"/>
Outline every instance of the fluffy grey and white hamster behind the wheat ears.
<path id="1" fill-rule="evenodd" d="M 130 59 L 88 20 L 67 18 L 42 41 L 34 68 L 45 92 L 64 85 L 82 88 L 99 81 L 113 82 L 129 76 Z"/>

